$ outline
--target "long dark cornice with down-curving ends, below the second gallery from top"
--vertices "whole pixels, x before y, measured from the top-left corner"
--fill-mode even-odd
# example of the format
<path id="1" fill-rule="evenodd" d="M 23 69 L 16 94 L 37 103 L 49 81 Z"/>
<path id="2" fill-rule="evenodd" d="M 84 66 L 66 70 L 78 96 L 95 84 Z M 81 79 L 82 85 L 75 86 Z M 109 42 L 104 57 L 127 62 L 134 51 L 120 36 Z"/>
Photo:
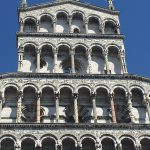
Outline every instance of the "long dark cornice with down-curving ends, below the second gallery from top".
<path id="1" fill-rule="evenodd" d="M 1 79 L 7 78 L 50 78 L 50 79 L 122 79 L 122 80 L 138 80 L 150 83 L 150 78 L 133 75 L 133 74 L 85 74 L 85 75 L 77 75 L 77 74 L 59 74 L 59 73 L 4 73 L 0 74 Z"/>

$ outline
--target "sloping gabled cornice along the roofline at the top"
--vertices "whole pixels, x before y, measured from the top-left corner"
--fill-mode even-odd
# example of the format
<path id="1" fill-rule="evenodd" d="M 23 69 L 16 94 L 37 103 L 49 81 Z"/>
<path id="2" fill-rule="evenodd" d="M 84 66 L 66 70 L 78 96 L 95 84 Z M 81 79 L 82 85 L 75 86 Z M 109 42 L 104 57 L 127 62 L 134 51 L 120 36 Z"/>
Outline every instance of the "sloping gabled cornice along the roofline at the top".
<path id="1" fill-rule="evenodd" d="M 119 15 L 119 13 L 120 13 L 119 11 L 110 10 L 107 8 L 102 8 L 102 7 L 98 7 L 95 5 L 91 5 L 91 4 L 88 4 L 85 2 L 83 3 L 83 2 L 79 2 L 79 1 L 73 1 L 73 0 L 66 0 L 66 1 L 62 1 L 62 2 L 54 1 L 54 2 L 50 2 L 50 3 L 41 3 L 41 4 L 28 6 L 28 7 L 24 7 L 24 8 L 18 8 L 18 10 L 20 12 L 26 12 L 26 11 L 31 11 L 31 10 L 37 10 L 37 9 L 42 9 L 42 8 L 47 8 L 47 7 L 58 6 L 58 5 L 67 4 L 67 3 L 74 4 L 74 5 L 81 6 L 81 7 L 86 7 L 86 8 L 97 10 L 97 11 L 101 11 L 104 13 L 109 13 L 112 15 Z"/>

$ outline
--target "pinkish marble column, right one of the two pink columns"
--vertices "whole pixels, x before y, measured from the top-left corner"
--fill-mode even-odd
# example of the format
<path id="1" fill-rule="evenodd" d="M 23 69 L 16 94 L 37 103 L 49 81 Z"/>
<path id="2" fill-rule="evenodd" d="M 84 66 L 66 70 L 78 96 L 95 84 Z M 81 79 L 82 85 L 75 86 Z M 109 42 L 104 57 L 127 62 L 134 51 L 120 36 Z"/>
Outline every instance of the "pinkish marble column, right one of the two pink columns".
<path id="1" fill-rule="evenodd" d="M 111 108 L 111 114 L 112 114 L 112 123 L 117 123 L 115 104 L 114 104 L 114 93 L 110 94 L 110 108 Z"/>

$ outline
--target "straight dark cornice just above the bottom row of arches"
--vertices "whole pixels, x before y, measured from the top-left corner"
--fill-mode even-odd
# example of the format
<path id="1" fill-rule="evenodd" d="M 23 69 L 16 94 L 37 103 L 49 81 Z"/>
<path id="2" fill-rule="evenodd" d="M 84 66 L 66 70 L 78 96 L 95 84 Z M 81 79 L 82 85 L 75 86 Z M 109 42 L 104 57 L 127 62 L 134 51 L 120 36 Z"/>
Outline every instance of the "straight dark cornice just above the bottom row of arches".
<path id="1" fill-rule="evenodd" d="M 57 124 L 57 123 L 1 123 L 0 129 L 86 129 L 86 130 L 150 130 L 149 124 Z"/>

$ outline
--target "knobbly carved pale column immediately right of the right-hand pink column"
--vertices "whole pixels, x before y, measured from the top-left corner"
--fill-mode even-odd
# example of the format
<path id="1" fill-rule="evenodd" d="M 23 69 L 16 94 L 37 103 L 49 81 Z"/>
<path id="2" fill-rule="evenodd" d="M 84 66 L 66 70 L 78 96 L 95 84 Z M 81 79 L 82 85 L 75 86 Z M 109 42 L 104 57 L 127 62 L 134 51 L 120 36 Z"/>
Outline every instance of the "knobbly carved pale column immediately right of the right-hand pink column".
<path id="1" fill-rule="evenodd" d="M 129 110 L 129 116 L 131 119 L 131 123 L 135 123 L 134 113 L 133 113 L 133 107 L 132 107 L 132 93 L 128 93 L 127 96 L 127 102 L 128 102 L 128 110 Z"/>

